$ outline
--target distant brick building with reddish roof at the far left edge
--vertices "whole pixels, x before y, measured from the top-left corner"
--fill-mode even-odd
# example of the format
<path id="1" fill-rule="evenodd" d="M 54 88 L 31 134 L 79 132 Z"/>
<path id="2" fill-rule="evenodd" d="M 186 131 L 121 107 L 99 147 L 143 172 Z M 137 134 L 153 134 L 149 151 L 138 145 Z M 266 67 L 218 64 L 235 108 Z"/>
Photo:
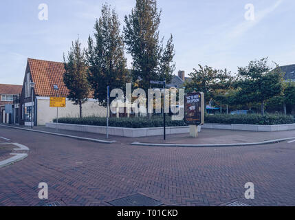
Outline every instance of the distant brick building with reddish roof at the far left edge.
<path id="1" fill-rule="evenodd" d="M 21 94 L 21 85 L 0 84 L 0 122 L 13 123 L 19 116 L 19 107 L 14 111 L 13 102 Z"/>

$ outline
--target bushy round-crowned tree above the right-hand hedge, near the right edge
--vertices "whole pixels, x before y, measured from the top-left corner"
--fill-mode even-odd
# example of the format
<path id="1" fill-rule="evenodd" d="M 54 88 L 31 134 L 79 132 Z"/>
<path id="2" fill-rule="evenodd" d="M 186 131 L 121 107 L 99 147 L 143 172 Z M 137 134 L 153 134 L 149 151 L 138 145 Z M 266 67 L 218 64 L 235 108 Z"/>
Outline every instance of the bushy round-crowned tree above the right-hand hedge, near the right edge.
<path id="1" fill-rule="evenodd" d="M 251 61 L 247 67 L 239 67 L 237 101 L 243 103 L 260 103 L 261 114 L 265 114 L 265 102 L 283 91 L 283 72 L 276 65 L 271 71 L 267 58 Z"/>

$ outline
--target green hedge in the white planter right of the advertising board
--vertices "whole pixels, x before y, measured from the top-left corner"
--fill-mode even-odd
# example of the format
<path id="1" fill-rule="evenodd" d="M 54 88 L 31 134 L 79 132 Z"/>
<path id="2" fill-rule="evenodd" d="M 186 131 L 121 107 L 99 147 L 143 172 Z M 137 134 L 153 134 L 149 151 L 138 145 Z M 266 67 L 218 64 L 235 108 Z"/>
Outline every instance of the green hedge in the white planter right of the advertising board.
<path id="1" fill-rule="evenodd" d="M 267 114 L 262 116 L 261 114 L 248 114 L 248 115 L 206 115 L 206 123 L 217 124 L 292 124 L 295 123 L 292 115 L 281 114 Z"/>

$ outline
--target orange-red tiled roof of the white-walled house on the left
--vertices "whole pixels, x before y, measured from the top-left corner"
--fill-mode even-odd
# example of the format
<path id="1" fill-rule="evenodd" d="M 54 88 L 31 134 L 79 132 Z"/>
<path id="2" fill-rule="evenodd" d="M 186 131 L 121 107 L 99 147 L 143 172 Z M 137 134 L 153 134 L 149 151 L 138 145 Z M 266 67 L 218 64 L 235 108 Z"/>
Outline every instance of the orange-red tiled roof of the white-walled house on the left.
<path id="1" fill-rule="evenodd" d="M 65 74 L 63 63 L 28 58 L 28 64 L 37 96 L 67 97 L 69 90 L 63 83 L 63 74 Z M 58 90 L 54 90 L 54 85 L 58 86 Z"/>

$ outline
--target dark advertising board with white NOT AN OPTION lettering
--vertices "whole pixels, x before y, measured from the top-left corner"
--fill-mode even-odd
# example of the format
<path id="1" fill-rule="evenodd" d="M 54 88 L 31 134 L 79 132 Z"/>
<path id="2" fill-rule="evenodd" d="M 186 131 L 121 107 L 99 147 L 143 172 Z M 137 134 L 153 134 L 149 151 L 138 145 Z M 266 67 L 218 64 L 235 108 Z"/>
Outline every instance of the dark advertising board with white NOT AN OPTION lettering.
<path id="1" fill-rule="evenodd" d="M 187 124 L 204 124 L 204 93 L 194 92 L 184 97 L 184 118 Z"/>

